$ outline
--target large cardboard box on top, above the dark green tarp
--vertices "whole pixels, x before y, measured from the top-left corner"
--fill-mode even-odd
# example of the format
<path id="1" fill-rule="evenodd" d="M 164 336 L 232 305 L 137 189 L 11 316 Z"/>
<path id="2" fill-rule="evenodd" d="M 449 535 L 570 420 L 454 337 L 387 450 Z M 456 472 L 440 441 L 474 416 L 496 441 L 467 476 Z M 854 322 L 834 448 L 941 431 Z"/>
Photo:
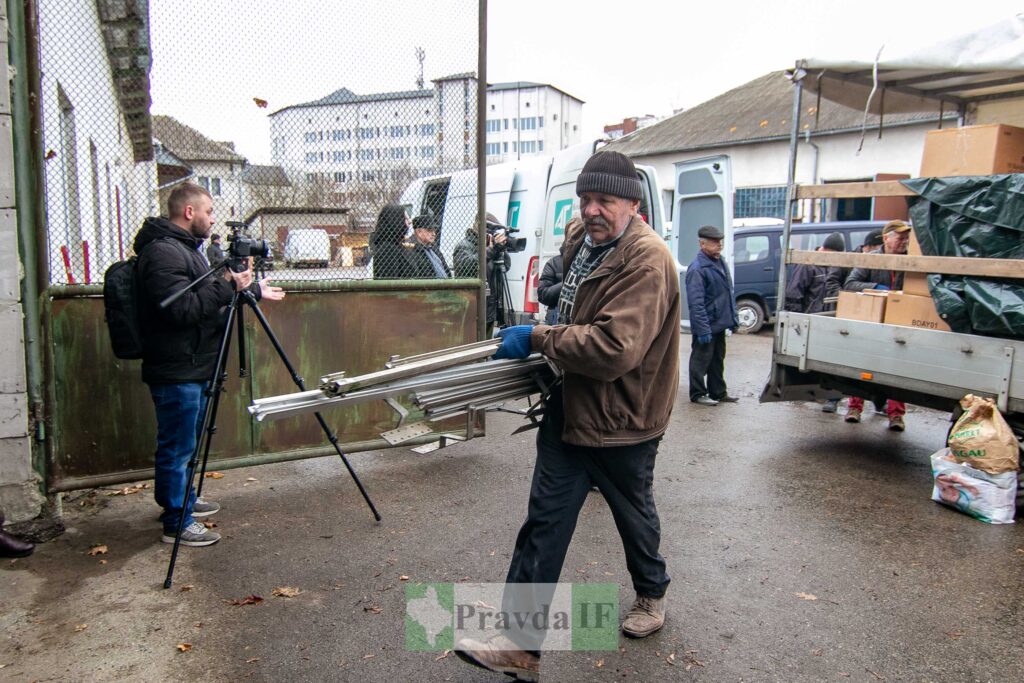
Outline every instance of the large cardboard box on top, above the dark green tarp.
<path id="1" fill-rule="evenodd" d="M 1024 128 L 988 124 L 932 130 L 921 160 L 924 178 L 1024 172 Z"/>

